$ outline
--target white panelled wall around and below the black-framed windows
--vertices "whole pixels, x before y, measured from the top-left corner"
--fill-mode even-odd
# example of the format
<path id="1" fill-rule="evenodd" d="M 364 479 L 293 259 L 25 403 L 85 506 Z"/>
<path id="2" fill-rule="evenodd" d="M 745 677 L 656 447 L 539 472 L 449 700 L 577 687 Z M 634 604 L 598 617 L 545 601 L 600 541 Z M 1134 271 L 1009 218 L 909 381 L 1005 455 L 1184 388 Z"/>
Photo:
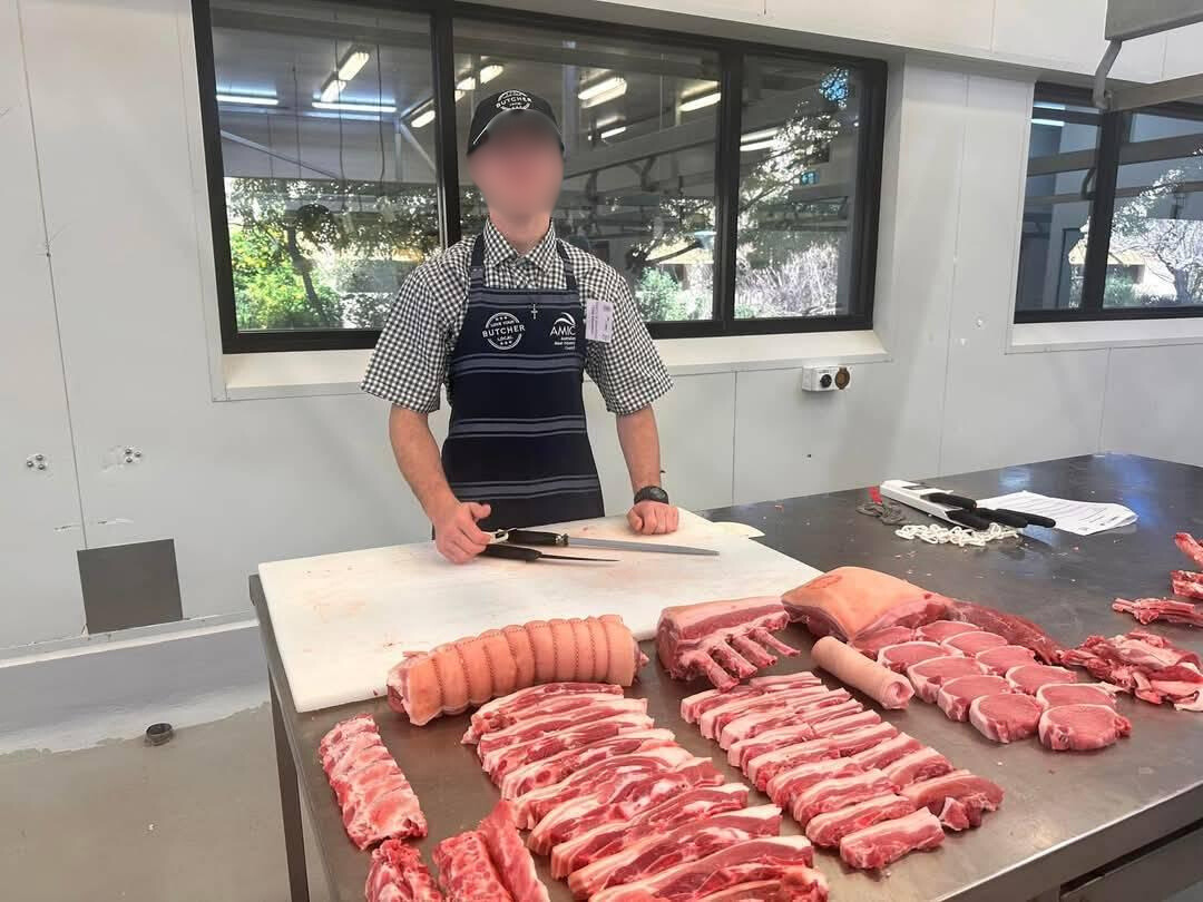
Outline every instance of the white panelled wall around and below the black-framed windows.
<path id="1" fill-rule="evenodd" d="M 978 37 L 985 19 L 997 24 L 979 6 L 964 5 Z M 82 629 L 84 533 L 88 546 L 173 538 L 191 618 L 245 611 L 260 560 L 425 538 L 380 403 L 212 399 L 215 289 L 186 0 L 19 0 L 19 28 L 17 10 L 0 0 L 0 374 L 18 387 L 0 396 L 0 647 Z M 876 298 L 890 360 L 858 367 L 838 396 L 801 393 L 796 369 L 678 376 L 658 413 L 681 503 L 1100 449 L 1203 464 L 1203 422 L 1185 415 L 1203 376 L 1197 345 L 1005 354 L 1030 79 L 919 58 L 895 67 Z M 1155 380 L 1163 407 L 1150 410 Z M 589 404 L 618 509 L 621 455 L 595 393 Z M 140 463 L 124 463 L 128 445 Z M 35 450 L 53 459 L 41 477 L 23 467 Z"/>

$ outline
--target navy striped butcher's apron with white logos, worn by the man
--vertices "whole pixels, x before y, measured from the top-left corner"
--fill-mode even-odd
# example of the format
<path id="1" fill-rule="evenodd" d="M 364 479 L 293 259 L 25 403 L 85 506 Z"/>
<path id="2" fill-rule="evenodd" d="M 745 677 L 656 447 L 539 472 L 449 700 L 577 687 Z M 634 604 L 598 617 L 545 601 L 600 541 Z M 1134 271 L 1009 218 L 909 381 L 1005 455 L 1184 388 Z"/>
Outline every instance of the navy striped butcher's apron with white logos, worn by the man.
<path id="1" fill-rule="evenodd" d="M 559 241 L 556 251 L 565 290 L 494 289 L 485 285 L 484 238 L 472 245 L 443 469 L 461 502 L 492 505 L 482 529 L 604 512 L 581 394 L 585 304 Z"/>

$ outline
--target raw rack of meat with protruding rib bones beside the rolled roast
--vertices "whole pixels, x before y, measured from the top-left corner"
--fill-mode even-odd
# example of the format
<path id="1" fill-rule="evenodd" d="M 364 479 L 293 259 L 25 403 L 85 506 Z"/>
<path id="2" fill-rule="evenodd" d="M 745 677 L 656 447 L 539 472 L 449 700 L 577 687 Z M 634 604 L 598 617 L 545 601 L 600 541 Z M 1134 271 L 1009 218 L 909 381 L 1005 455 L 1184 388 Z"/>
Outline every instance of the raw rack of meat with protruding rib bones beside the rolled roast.
<path id="1" fill-rule="evenodd" d="M 772 635 L 787 625 L 789 615 L 777 598 L 674 605 L 660 611 L 656 653 L 674 680 L 705 676 L 727 689 L 776 664 L 772 652 L 798 654 Z"/>

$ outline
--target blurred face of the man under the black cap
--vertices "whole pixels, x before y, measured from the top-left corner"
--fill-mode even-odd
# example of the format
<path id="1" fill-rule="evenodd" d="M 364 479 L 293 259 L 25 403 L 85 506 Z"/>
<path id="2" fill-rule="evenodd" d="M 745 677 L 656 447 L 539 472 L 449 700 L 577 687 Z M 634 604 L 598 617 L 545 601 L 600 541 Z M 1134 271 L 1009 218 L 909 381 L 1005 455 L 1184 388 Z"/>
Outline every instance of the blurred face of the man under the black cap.
<path id="1" fill-rule="evenodd" d="M 468 173 L 490 209 L 508 216 L 550 215 L 564 180 L 564 158 L 544 123 L 514 117 L 496 121 L 468 154 Z"/>

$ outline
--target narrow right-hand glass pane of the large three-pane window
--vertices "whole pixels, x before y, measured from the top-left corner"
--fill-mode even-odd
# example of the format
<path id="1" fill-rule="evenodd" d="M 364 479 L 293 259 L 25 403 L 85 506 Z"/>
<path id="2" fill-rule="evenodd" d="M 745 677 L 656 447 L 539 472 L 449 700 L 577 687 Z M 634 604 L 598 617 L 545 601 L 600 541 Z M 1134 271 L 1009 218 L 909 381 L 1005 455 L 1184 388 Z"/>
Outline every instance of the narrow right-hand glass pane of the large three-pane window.
<path id="1" fill-rule="evenodd" d="M 743 82 L 735 315 L 848 314 L 860 76 L 747 57 Z"/>

